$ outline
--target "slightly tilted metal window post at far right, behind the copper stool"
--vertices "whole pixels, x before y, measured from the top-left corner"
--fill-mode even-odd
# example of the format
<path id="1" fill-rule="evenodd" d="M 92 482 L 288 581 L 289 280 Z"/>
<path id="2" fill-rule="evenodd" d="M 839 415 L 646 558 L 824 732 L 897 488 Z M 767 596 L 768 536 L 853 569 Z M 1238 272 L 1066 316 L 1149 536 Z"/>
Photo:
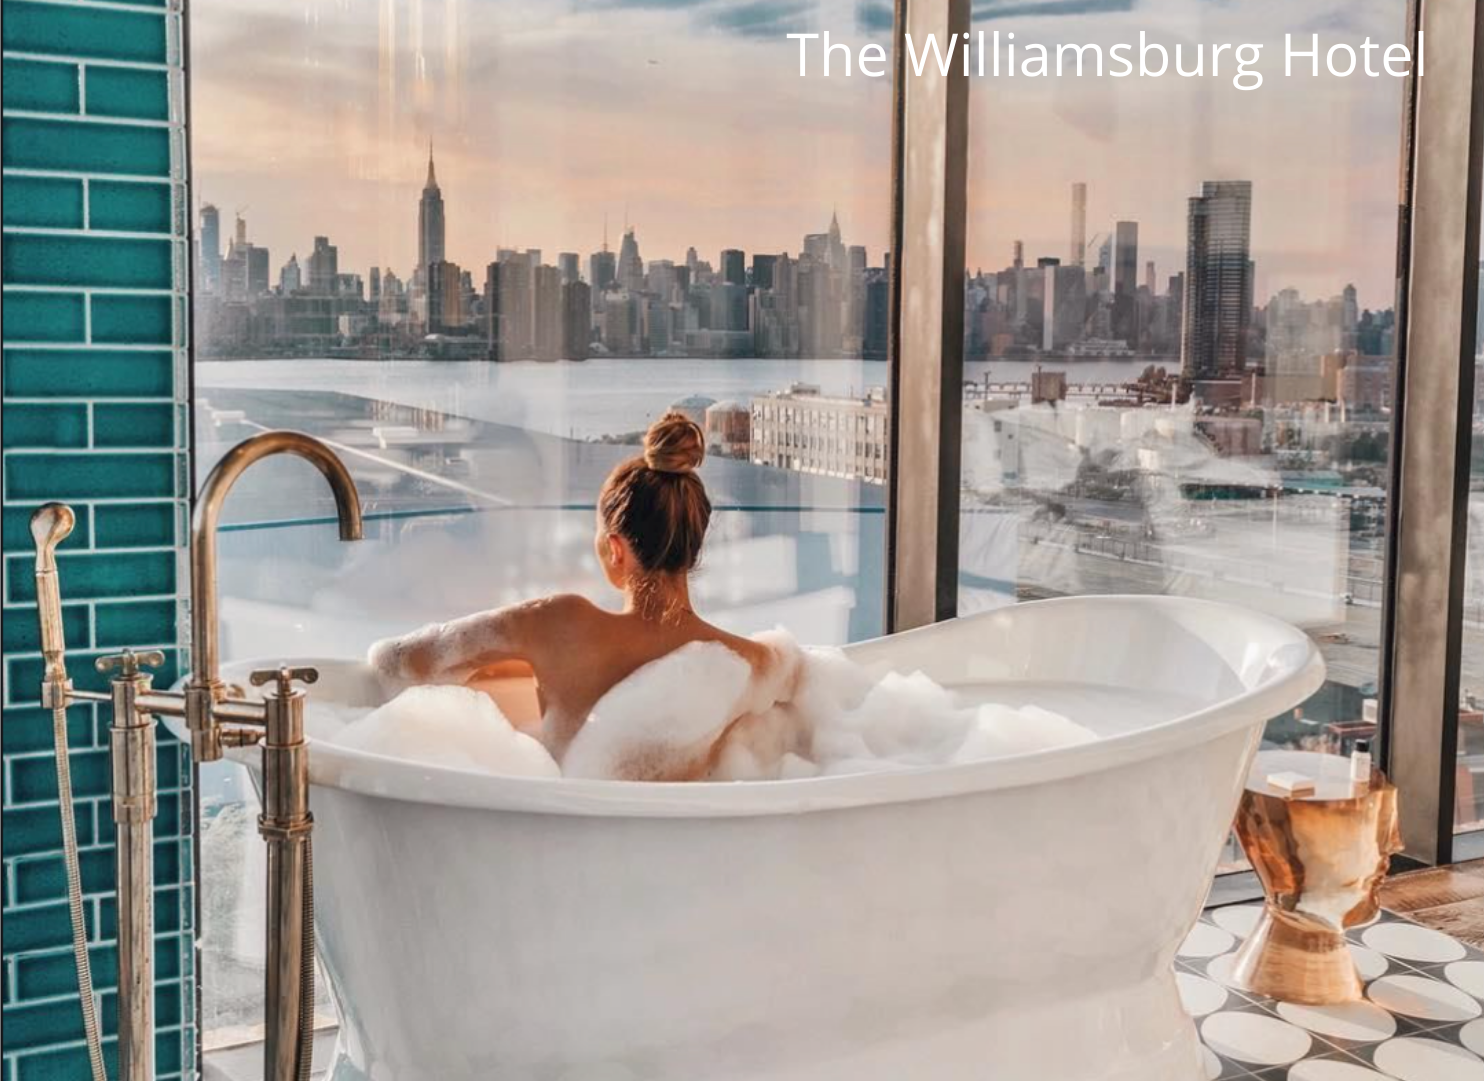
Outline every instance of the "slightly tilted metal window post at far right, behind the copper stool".
<path id="1" fill-rule="evenodd" d="M 1459 668 L 1478 318 L 1484 25 L 1475 0 L 1422 0 L 1411 94 L 1404 337 L 1393 438 L 1385 757 L 1405 851 L 1453 854 Z"/>

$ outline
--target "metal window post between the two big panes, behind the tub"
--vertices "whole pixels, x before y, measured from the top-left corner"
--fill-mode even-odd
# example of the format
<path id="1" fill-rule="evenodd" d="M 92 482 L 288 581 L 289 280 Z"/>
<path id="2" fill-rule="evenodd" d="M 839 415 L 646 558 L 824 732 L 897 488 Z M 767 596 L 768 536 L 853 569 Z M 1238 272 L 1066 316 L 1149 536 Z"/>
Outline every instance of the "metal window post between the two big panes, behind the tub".
<path id="1" fill-rule="evenodd" d="M 959 64 L 945 76 L 932 61 L 916 74 L 907 64 L 905 34 L 919 45 L 929 34 L 947 45 L 968 30 L 969 0 L 896 3 L 886 548 L 890 631 L 947 619 L 957 610 L 969 77 Z"/>

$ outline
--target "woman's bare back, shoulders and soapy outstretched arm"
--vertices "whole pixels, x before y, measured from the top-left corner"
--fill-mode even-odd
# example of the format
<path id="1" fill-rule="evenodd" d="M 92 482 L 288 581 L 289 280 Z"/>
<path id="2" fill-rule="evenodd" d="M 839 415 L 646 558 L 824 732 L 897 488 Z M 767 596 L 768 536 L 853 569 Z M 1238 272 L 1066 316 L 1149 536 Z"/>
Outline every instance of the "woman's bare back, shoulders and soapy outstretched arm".
<path id="1" fill-rule="evenodd" d="M 607 612 L 576 594 L 546 597 L 424 627 L 377 643 L 372 665 L 408 683 L 479 685 L 530 673 L 542 711 L 542 742 L 562 754 L 598 701 L 651 661 L 692 641 L 715 641 L 755 676 L 778 662 L 766 644 L 729 634 L 689 609 L 653 619 Z M 534 735 L 534 734 L 533 734 Z"/>

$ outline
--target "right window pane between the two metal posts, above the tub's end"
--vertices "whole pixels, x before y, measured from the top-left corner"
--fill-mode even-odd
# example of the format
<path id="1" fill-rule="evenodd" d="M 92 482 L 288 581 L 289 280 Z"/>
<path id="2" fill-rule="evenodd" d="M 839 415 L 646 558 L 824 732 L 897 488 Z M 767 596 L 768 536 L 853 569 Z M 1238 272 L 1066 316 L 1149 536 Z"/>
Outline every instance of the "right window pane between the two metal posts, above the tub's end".
<path id="1" fill-rule="evenodd" d="M 976 7 L 959 610 L 1178 594 L 1307 630 L 1330 662 L 1276 745 L 1368 735 L 1380 633 L 1404 80 L 1282 77 L 1266 7 Z M 1325 46 L 1404 0 L 1297 0 Z M 1009 37 L 1014 31 L 1014 39 Z M 1141 31 L 1204 74 L 1011 77 Z M 1261 43 L 1261 89 L 1230 50 Z M 1158 67 L 1155 56 L 1150 67 Z M 1017 68 L 1024 71 L 1024 68 Z"/>

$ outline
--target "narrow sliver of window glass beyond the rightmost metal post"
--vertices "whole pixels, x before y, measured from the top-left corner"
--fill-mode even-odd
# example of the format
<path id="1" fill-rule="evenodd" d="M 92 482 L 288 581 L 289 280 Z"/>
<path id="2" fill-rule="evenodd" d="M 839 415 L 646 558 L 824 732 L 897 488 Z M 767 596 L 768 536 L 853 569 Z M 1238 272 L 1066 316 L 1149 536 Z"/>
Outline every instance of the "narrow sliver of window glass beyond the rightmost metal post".
<path id="1" fill-rule="evenodd" d="M 1484 224 L 1480 226 L 1484 252 Z M 1484 255 L 1481 255 L 1484 258 Z M 1484 263 L 1481 263 L 1484 266 Z M 1469 546 L 1463 561 L 1463 650 L 1459 673 L 1459 771 L 1453 821 L 1484 830 L 1484 273 L 1474 333 L 1474 435 L 1469 453 Z"/>

